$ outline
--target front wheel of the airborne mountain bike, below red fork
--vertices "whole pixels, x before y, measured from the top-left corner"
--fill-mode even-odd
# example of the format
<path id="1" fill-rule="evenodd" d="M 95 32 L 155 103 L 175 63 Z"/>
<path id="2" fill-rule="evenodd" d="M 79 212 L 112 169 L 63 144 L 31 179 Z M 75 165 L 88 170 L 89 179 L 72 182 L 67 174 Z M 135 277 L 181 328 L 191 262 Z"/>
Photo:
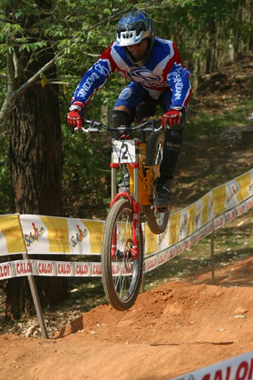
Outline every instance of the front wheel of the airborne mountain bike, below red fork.
<path id="1" fill-rule="evenodd" d="M 133 210 L 128 199 L 117 200 L 109 210 L 104 229 L 101 265 L 107 300 L 115 309 L 131 308 L 139 293 L 143 241 L 139 226 L 139 257 L 133 259 Z"/>

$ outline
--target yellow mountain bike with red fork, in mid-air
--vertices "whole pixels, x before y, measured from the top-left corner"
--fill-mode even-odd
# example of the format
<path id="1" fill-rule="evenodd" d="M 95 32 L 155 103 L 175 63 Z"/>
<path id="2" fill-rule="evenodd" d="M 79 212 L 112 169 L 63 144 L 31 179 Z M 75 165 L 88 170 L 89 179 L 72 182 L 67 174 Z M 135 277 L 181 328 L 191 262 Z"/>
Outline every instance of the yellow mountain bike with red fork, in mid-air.
<path id="1" fill-rule="evenodd" d="M 141 214 L 146 215 L 149 228 L 155 234 L 165 230 L 170 214 L 168 209 L 156 210 L 152 205 L 164 145 L 161 120 L 152 119 L 137 126 L 121 125 L 119 128 L 86 120 L 81 131 L 111 134 L 112 200 L 103 235 L 102 281 L 109 303 L 123 311 L 133 306 L 142 279 Z M 137 133 L 139 136 L 135 137 Z M 116 172 L 121 165 L 125 165 L 129 172 L 130 186 L 129 191 L 118 193 Z"/>

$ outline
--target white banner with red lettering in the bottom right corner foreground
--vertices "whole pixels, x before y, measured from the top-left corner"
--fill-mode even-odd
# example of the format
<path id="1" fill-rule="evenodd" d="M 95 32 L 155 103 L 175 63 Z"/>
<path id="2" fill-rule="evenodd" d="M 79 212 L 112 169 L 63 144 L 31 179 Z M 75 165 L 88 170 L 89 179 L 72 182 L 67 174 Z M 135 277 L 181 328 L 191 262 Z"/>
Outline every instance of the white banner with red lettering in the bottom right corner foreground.
<path id="1" fill-rule="evenodd" d="M 253 351 L 175 377 L 173 380 L 252 380 Z"/>

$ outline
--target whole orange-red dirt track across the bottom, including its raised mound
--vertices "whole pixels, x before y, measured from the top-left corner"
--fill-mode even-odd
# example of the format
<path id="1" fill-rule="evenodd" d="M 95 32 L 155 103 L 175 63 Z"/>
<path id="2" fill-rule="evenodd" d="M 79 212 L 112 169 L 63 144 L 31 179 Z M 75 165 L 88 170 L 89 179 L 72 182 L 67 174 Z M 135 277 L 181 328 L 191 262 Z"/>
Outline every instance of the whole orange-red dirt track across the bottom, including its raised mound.
<path id="1" fill-rule="evenodd" d="M 217 269 L 216 285 L 208 272 L 140 294 L 124 313 L 99 306 L 55 339 L 0 335 L 0 377 L 165 380 L 249 352 L 252 269 L 253 256 Z"/>

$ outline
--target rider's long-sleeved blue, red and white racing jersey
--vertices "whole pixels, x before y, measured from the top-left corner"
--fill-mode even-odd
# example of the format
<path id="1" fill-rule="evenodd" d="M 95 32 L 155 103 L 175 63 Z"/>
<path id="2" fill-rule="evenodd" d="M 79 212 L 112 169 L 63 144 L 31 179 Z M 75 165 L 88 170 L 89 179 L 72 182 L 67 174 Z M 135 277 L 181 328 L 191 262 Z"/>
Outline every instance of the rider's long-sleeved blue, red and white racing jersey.
<path id="1" fill-rule="evenodd" d="M 159 37 L 155 37 L 149 58 L 141 67 L 131 63 L 125 48 L 117 46 L 116 42 L 111 44 L 83 75 L 71 104 L 80 101 L 87 107 L 92 95 L 104 86 L 115 70 L 130 81 L 139 83 L 153 99 L 158 99 L 163 91 L 171 89 L 171 107 L 187 109 L 191 96 L 190 71 L 182 65 L 176 44 Z"/>

